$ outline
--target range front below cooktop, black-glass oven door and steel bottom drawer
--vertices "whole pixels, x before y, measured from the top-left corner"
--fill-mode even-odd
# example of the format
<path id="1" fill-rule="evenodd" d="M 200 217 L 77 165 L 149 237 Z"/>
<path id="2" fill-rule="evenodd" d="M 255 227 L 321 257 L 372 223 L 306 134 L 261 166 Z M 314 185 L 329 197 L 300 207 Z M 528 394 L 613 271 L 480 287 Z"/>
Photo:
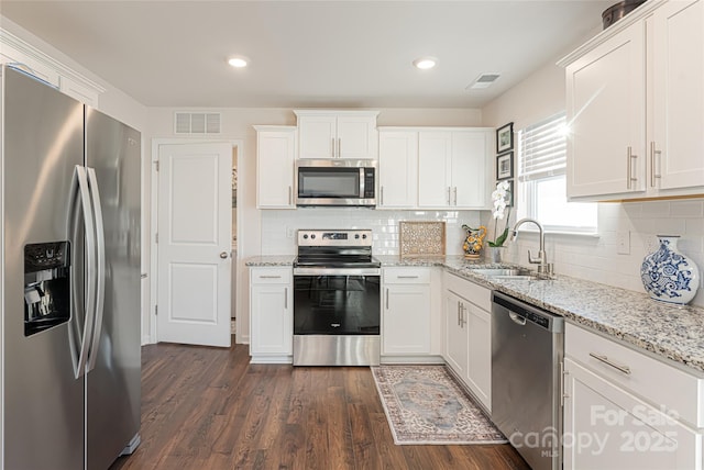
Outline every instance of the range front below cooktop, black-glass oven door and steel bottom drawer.
<path id="1" fill-rule="evenodd" d="M 378 269 L 294 271 L 294 365 L 380 362 Z"/>

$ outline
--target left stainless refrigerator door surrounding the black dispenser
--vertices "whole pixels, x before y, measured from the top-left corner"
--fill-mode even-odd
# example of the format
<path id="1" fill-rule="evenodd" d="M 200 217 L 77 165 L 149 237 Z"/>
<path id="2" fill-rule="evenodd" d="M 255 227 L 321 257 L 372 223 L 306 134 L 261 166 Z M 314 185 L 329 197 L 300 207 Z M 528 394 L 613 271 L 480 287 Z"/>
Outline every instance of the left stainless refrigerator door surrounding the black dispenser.
<path id="1" fill-rule="evenodd" d="M 85 382 L 74 377 L 69 323 L 24 336 L 23 253 L 26 244 L 68 238 L 70 182 L 84 160 L 84 107 L 20 71 L 2 68 L 1 75 L 2 463 L 6 469 L 80 469 Z M 80 255 L 69 242 L 72 253 Z M 81 265 L 80 257 L 73 258 L 70 269 L 80 271 Z M 72 321 L 81 314 L 81 305 L 72 305 Z"/>

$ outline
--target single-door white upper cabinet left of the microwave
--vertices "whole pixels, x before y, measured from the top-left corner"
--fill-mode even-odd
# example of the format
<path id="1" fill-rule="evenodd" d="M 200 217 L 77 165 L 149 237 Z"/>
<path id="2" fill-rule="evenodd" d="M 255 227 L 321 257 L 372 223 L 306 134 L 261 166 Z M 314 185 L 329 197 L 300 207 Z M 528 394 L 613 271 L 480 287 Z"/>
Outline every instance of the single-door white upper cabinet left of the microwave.
<path id="1" fill-rule="evenodd" d="M 294 204 L 294 160 L 296 127 L 255 125 L 256 206 L 296 209 Z"/>

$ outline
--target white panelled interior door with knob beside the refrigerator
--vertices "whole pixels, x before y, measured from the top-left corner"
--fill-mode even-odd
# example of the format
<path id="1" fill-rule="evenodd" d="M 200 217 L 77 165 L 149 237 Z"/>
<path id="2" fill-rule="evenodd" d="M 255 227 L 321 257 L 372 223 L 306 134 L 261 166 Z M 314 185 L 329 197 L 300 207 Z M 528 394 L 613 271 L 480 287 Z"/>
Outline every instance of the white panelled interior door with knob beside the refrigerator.
<path id="1" fill-rule="evenodd" d="M 230 346 L 232 145 L 158 150 L 158 342 Z"/>

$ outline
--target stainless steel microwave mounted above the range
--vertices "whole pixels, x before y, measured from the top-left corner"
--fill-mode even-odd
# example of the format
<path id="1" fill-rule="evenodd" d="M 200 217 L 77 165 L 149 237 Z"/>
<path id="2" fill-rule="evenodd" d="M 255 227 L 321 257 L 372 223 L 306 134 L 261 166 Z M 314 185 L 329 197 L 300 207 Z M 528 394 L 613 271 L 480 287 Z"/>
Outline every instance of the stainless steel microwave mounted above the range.
<path id="1" fill-rule="evenodd" d="M 376 160 L 296 160 L 296 205 L 376 205 Z"/>

